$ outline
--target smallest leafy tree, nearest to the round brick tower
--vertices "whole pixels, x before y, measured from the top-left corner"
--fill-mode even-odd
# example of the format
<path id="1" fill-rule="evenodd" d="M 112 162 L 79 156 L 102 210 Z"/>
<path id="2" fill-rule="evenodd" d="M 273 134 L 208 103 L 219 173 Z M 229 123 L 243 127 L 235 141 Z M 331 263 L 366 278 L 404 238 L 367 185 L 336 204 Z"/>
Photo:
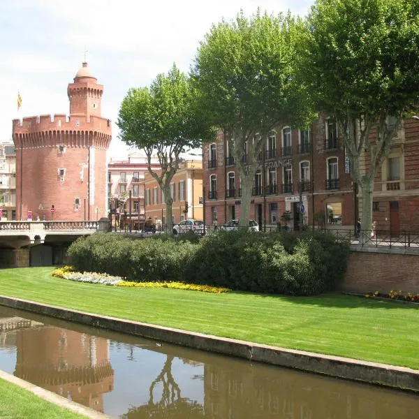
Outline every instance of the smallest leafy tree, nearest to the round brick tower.
<path id="1" fill-rule="evenodd" d="M 167 75 L 157 75 L 150 87 L 129 89 L 119 109 L 119 138 L 145 152 L 148 171 L 164 193 L 169 232 L 173 203 L 170 182 L 179 169 L 180 155 L 214 137 L 214 131 L 199 115 L 195 96 L 189 77 L 174 64 Z M 152 169 L 152 156 L 159 159 L 159 170 Z"/>

